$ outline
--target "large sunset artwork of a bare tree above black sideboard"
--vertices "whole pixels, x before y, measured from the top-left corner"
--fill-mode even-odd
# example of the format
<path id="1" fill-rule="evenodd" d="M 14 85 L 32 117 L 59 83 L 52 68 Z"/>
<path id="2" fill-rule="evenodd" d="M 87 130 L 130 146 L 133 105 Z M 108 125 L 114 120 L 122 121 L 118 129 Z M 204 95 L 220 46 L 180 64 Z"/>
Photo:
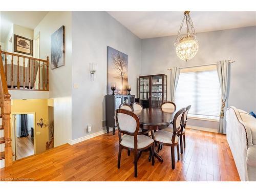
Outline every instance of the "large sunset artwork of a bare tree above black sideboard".
<path id="1" fill-rule="evenodd" d="M 127 95 L 128 55 L 108 46 L 108 94 L 112 94 L 111 84 L 115 83 L 117 95 Z"/>

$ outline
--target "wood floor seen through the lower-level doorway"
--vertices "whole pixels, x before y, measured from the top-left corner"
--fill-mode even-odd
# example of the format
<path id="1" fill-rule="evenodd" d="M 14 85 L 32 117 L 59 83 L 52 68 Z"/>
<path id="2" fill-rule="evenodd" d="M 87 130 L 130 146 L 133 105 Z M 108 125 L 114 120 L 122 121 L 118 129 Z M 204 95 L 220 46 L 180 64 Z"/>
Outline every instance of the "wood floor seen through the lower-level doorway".
<path id="1" fill-rule="evenodd" d="M 34 141 L 31 135 L 28 137 L 17 137 L 16 139 L 16 159 L 22 159 L 30 155 L 34 155 Z"/>

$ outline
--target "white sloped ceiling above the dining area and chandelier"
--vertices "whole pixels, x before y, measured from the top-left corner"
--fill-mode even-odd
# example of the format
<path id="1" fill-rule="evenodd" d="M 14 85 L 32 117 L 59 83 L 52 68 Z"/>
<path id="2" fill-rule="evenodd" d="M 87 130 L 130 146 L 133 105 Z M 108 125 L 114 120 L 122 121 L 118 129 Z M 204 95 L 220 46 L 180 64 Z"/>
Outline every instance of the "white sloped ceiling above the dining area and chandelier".
<path id="1" fill-rule="evenodd" d="M 177 35 L 184 12 L 108 11 L 118 22 L 140 38 Z M 256 26 L 256 12 L 191 11 L 196 33 Z M 185 23 L 182 28 L 185 32 Z"/>

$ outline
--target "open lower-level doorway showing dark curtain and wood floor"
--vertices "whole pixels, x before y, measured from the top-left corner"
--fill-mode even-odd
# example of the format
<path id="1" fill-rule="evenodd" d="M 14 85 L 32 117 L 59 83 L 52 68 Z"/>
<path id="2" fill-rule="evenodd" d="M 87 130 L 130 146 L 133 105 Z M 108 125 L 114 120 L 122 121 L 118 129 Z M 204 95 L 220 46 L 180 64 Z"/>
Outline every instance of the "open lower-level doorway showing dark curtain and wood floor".
<path id="1" fill-rule="evenodd" d="M 13 114 L 15 160 L 35 154 L 35 115 Z"/>

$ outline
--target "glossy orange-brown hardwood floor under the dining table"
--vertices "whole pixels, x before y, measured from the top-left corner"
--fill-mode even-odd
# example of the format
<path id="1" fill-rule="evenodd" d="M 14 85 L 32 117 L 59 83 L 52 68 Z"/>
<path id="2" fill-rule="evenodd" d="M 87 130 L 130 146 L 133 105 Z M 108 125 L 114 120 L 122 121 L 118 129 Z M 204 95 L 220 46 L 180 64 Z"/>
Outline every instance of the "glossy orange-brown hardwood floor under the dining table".
<path id="1" fill-rule="evenodd" d="M 186 130 L 186 148 L 180 161 L 176 157 L 175 169 L 170 147 L 164 146 L 159 153 L 164 162 L 156 160 L 154 166 L 148 153 L 142 153 L 138 178 L 134 178 L 133 153 L 129 157 L 123 150 L 117 168 L 118 134 L 112 133 L 18 160 L 2 168 L 0 175 L 2 180 L 36 181 L 240 181 L 225 135 Z"/>

